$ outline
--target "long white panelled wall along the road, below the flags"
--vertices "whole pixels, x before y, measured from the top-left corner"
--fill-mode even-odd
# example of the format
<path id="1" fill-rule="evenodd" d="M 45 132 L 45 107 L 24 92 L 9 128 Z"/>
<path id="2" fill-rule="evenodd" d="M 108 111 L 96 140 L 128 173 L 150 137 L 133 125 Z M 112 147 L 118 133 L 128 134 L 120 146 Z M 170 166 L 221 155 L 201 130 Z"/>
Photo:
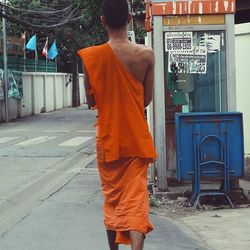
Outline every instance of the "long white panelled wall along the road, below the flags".
<path id="1" fill-rule="evenodd" d="M 9 119 L 72 107 L 72 83 L 66 86 L 65 73 L 23 72 L 23 98 L 9 99 Z M 79 75 L 80 104 L 86 103 L 84 77 Z M 4 120 L 4 102 L 0 102 L 0 122 Z"/>

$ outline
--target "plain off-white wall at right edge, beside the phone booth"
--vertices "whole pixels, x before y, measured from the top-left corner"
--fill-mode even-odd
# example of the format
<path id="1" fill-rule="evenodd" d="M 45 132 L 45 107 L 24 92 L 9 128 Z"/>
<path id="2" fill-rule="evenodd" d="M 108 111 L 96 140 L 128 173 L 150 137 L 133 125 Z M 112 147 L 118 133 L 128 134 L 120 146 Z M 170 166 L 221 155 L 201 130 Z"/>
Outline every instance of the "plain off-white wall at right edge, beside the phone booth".
<path id="1" fill-rule="evenodd" d="M 237 110 L 243 112 L 245 153 L 250 155 L 250 23 L 235 25 L 235 38 Z"/>

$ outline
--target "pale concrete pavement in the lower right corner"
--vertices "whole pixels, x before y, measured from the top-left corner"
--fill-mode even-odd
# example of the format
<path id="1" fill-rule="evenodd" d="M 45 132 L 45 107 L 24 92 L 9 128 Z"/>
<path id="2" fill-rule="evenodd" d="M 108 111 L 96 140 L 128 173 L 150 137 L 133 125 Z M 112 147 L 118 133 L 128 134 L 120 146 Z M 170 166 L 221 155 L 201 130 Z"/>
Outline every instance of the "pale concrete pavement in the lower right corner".
<path id="1" fill-rule="evenodd" d="M 250 249 L 250 209 L 224 209 L 182 219 L 211 250 Z"/>

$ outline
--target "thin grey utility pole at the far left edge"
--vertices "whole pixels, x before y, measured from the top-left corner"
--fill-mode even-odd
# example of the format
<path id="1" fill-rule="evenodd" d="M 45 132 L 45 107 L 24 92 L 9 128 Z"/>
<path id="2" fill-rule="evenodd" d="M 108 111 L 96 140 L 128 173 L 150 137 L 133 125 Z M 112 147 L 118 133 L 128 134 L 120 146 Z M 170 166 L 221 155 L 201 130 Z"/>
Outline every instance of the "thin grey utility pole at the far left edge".
<path id="1" fill-rule="evenodd" d="M 4 0 L 6 4 L 6 0 Z M 5 11 L 3 10 L 3 14 Z M 8 110 L 8 56 L 7 56 L 7 32 L 6 32 L 6 19 L 3 17 L 3 61 L 4 61 L 4 89 L 5 89 L 5 122 L 9 122 L 9 110 Z"/>

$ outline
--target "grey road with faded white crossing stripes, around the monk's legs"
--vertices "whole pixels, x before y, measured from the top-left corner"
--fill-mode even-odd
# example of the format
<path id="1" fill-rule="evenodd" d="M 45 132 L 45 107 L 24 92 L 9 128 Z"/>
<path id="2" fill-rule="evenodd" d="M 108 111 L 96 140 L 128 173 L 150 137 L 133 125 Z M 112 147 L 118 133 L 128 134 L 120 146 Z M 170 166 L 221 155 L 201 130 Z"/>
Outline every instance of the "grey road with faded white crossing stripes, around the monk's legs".
<path id="1" fill-rule="evenodd" d="M 95 117 L 67 109 L 0 125 L 1 250 L 108 249 Z M 152 221 L 146 250 L 207 249 L 184 225 Z"/>

